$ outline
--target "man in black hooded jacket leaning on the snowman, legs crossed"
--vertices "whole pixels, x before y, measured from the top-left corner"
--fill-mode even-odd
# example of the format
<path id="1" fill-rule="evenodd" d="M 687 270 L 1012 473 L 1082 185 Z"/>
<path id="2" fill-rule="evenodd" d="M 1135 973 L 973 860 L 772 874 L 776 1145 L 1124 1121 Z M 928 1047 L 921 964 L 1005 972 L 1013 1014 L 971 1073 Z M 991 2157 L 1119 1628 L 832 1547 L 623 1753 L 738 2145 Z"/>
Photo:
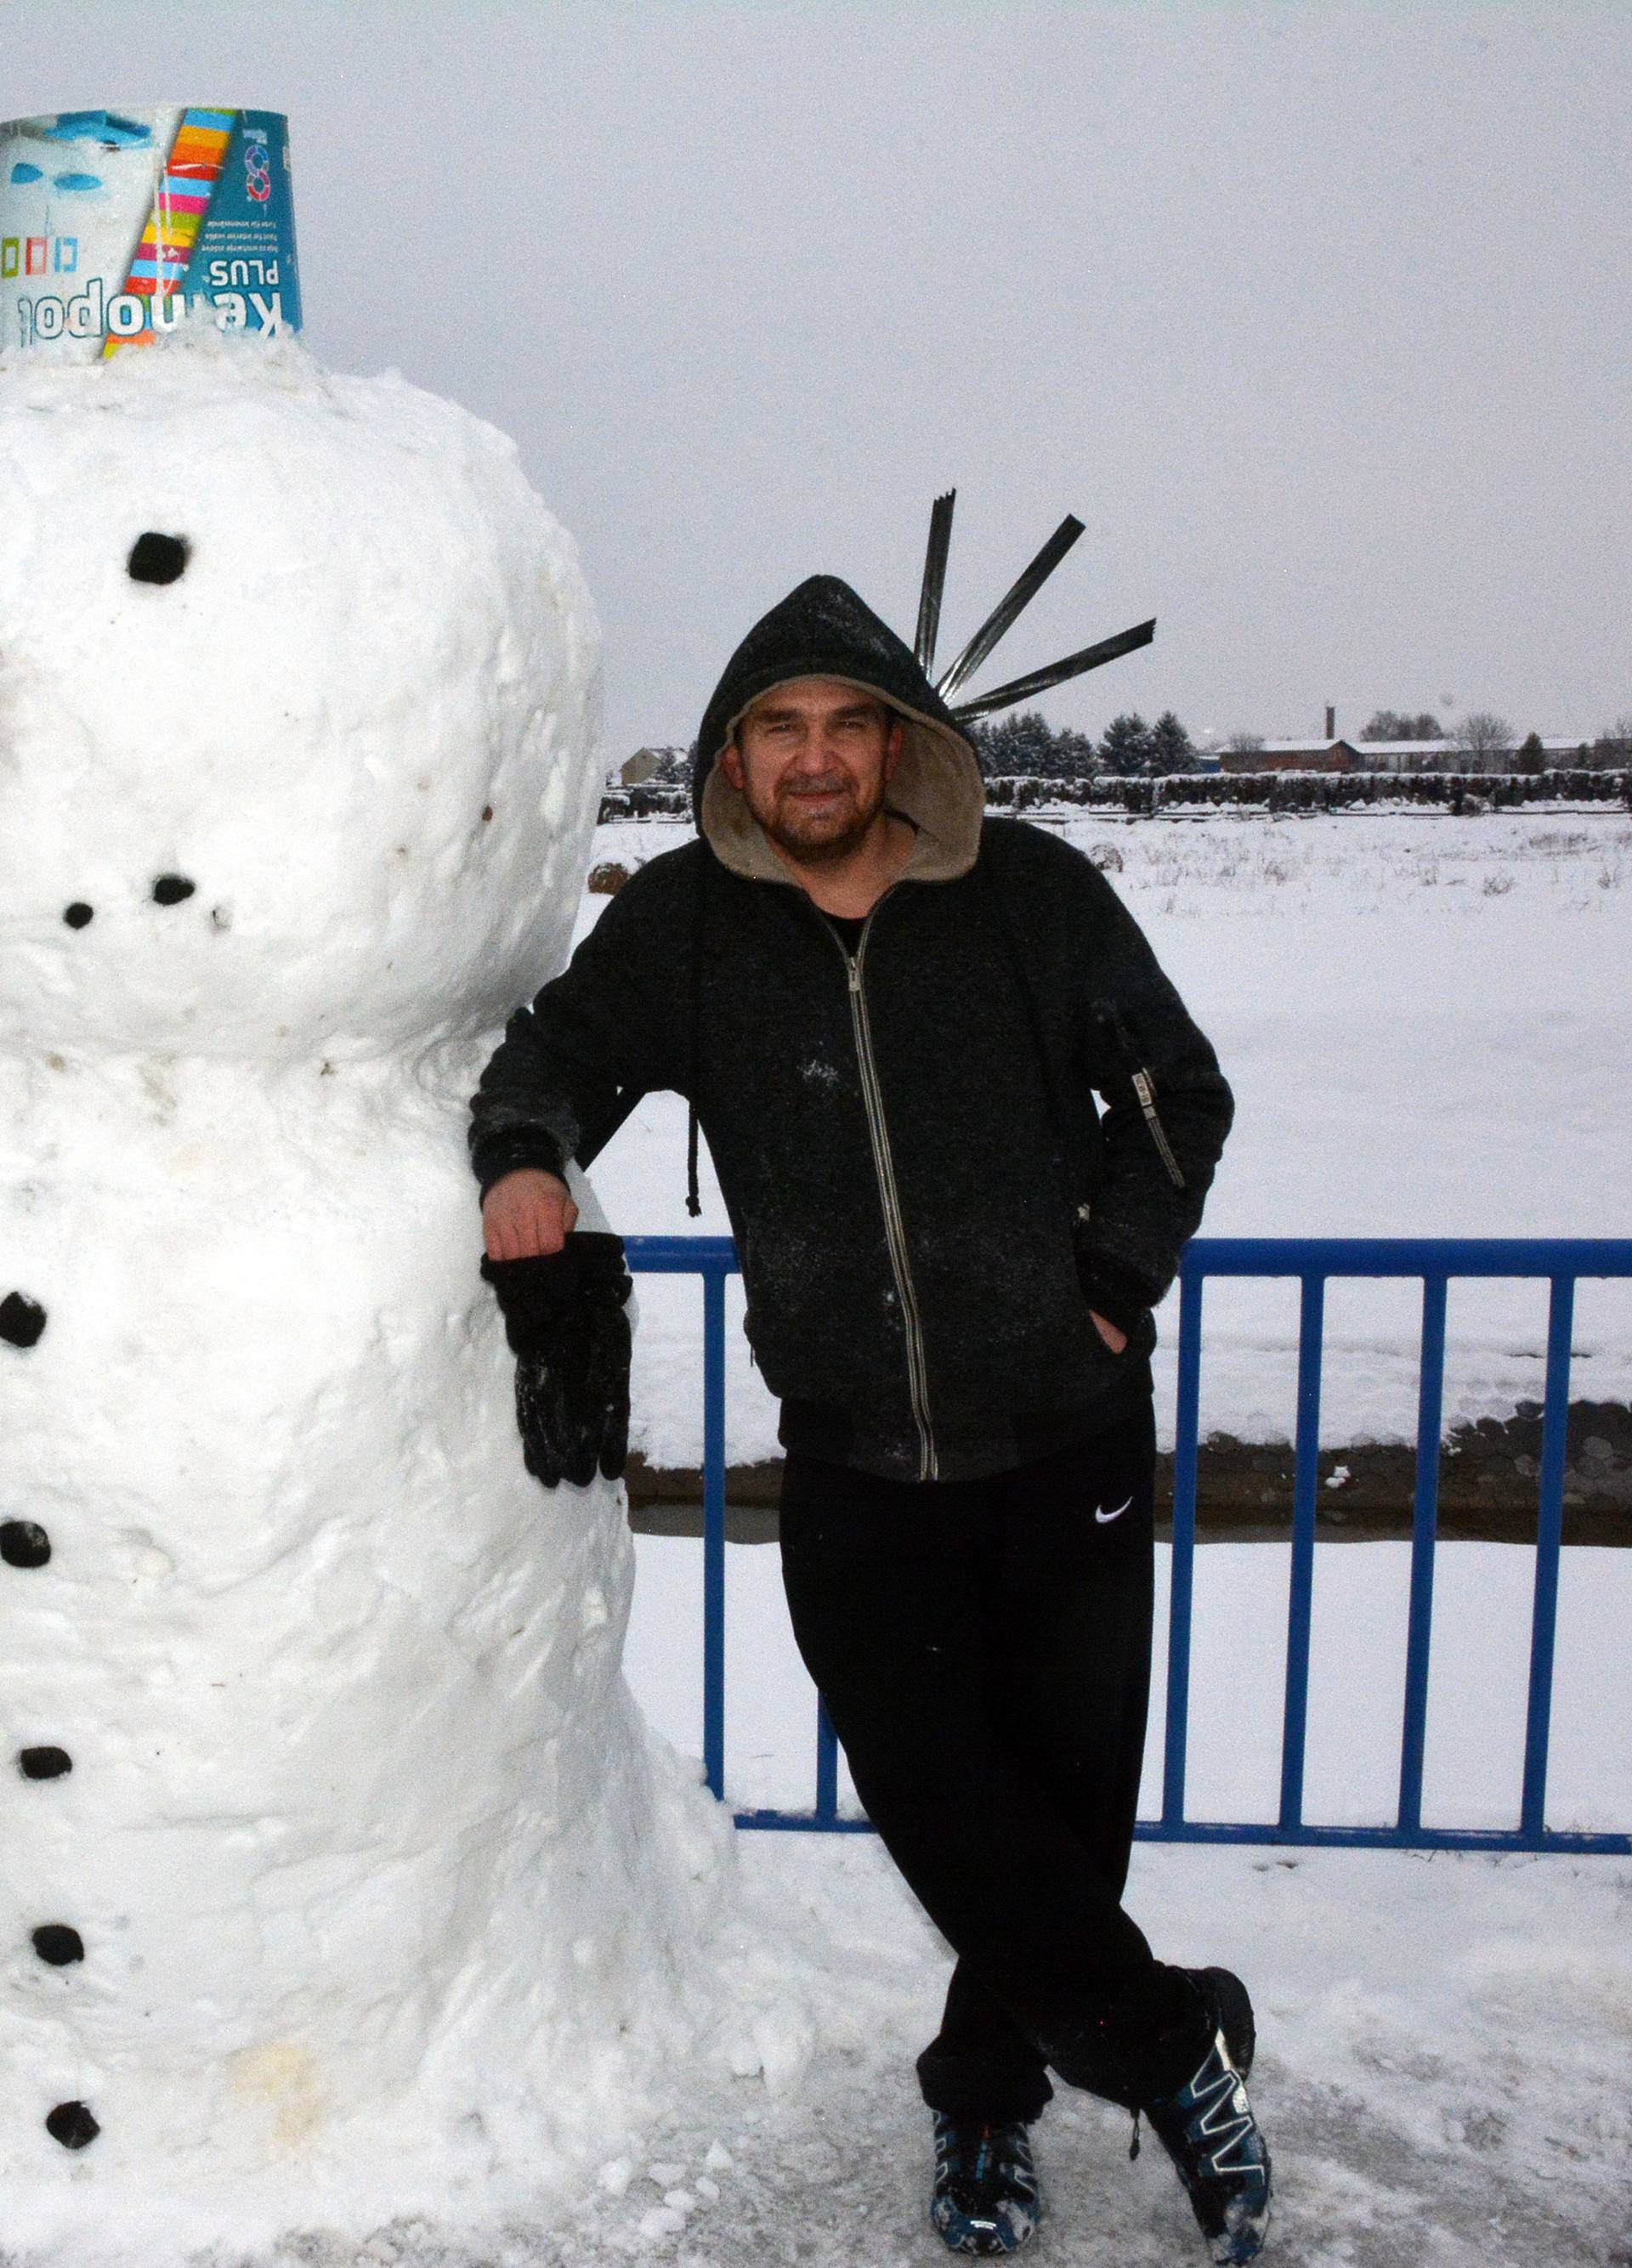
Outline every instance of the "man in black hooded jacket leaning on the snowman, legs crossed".
<path id="1" fill-rule="evenodd" d="M 1030 2234 L 1053 2068 L 1133 2109 L 1135 2146 L 1144 2112 L 1214 2259 L 1246 2261 L 1269 2218 L 1251 2003 L 1158 1962 L 1119 1903 L 1151 1306 L 1230 1091 L 1092 862 L 983 816 L 967 737 L 844 583 L 799 585 L 726 665 L 695 812 L 699 841 L 624 885 L 481 1077 L 488 1270 L 570 1270 L 567 1163 L 620 1089 L 688 1095 L 781 1397 L 794 1635 L 958 1953 L 917 2066 L 935 2227 L 965 2252 Z"/>

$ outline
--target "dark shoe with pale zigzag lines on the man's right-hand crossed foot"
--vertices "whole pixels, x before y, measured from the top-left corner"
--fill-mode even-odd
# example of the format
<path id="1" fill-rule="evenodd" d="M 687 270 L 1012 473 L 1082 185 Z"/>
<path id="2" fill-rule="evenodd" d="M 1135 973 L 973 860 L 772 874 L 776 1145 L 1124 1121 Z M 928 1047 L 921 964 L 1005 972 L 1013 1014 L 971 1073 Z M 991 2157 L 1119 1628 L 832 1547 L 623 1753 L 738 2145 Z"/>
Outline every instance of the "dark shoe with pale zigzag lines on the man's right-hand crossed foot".
<path id="1" fill-rule="evenodd" d="M 1257 2259 L 1269 2229 L 1269 2146 L 1242 2084 L 1253 2062 L 1253 2003 L 1228 1969 L 1187 1969 L 1205 2003 L 1212 2043 L 1169 2096 L 1139 2105 L 1155 2127 L 1212 2259 Z"/>

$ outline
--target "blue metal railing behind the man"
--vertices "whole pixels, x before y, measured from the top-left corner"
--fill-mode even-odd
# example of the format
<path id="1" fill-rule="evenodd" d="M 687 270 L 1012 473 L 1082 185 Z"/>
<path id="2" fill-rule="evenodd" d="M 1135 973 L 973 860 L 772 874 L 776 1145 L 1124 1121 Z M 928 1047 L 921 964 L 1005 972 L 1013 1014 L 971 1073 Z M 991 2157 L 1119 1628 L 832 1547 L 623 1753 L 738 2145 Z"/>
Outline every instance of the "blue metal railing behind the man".
<path id="1" fill-rule="evenodd" d="M 704 1771 L 724 1794 L 724 1594 L 726 1594 L 726 1411 L 724 1290 L 735 1272 L 729 1236 L 631 1236 L 636 1272 L 704 1279 Z M 1208 1277 L 1296 1277 L 1298 1397 L 1292 1488 L 1292 1581 L 1287 1608 L 1280 1810 L 1273 1821 L 1198 1821 L 1185 1817 L 1189 1733 L 1189 1651 L 1196 1567 L 1196 1456 L 1201 1415 L 1201 1288 Z M 1416 1395 L 1416 1486 L 1412 1501 L 1412 1574 L 1405 1635 L 1405 1712 L 1394 1826 L 1310 1826 L 1303 1819 L 1303 1767 L 1310 1715 L 1310 1628 L 1314 1597 L 1314 1510 L 1321 1433 L 1321 1352 L 1326 1284 L 1332 1277 L 1416 1277 L 1423 1286 L 1421 1368 Z M 1423 1823 L 1423 1751 L 1428 1735 L 1428 1653 L 1435 1613 L 1435 1538 L 1439 1520 L 1439 1442 L 1446 1374 L 1446 1286 L 1453 1277 L 1539 1277 L 1550 1286 L 1546 1402 L 1534 1599 L 1530 1613 L 1530 1690 L 1516 1828 L 1437 1828 Z M 1605 1851 L 1632 1855 L 1632 1833 L 1587 1835 L 1546 1826 L 1548 1742 L 1553 1728 L 1553 1660 L 1557 1642 L 1559 1547 L 1564 1533 L 1564 1445 L 1568 1422 L 1571 1322 L 1580 1277 L 1632 1277 L 1632 1238 L 1280 1238 L 1198 1236 L 1178 1272 L 1178 1413 L 1173 1440 L 1173 1558 L 1167 1637 L 1167 1728 L 1162 1810 L 1142 1819 L 1155 1842 L 1344 1844 L 1410 1851 Z M 869 1833 L 865 1819 L 838 1808 L 838 1742 L 817 1703 L 817 1796 L 810 1812 L 738 1812 L 742 1828 L 815 1828 Z"/>

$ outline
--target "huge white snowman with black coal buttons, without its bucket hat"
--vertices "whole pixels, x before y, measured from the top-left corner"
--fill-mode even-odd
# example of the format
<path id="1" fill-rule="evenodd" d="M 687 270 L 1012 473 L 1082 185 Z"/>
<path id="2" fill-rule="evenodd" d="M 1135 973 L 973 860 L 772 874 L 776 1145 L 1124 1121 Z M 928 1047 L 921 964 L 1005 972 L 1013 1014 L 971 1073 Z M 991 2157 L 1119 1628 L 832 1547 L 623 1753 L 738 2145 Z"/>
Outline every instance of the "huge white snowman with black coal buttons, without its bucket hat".
<path id="1" fill-rule="evenodd" d="M 0 363 L 0 2245 L 477 2214 L 747 2068 L 729 1830 L 620 1676 L 622 1490 L 522 1465 L 463 1141 L 597 699 L 452 404 Z"/>

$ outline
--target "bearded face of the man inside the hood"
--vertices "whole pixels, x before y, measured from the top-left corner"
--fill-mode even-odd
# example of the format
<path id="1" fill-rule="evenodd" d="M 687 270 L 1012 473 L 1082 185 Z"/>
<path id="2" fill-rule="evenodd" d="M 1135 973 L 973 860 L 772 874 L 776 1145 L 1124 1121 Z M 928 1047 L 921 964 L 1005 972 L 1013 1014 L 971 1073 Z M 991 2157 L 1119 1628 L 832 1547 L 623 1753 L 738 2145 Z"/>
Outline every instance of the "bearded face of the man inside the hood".
<path id="1" fill-rule="evenodd" d="M 806 866 L 847 857 L 883 810 L 901 721 L 838 678 L 794 678 L 738 723 L 720 769 L 779 850 Z"/>

